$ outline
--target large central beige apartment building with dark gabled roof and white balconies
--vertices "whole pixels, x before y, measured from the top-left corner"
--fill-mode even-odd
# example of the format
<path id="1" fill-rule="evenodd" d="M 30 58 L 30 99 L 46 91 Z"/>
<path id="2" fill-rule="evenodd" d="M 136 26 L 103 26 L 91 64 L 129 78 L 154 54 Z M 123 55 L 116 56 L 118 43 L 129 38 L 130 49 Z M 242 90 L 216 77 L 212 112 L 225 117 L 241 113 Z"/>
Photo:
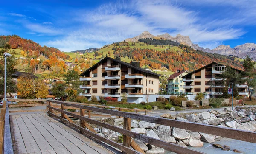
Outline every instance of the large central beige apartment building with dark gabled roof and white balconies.
<path id="1" fill-rule="evenodd" d="M 161 75 L 140 68 L 139 62 L 122 62 L 120 58 L 105 57 L 81 73 L 80 95 L 118 98 L 128 94 L 128 102 L 140 102 L 144 94 L 158 94 Z"/>

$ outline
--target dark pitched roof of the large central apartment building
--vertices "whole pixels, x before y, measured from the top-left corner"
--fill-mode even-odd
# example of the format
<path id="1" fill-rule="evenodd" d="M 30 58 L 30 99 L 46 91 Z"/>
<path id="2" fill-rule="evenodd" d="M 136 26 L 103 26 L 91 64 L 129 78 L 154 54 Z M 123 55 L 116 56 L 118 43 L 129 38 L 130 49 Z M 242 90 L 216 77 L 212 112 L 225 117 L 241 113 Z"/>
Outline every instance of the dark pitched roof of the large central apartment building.
<path id="1" fill-rule="evenodd" d="M 111 58 L 111 57 L 108 57 L 108 56 L 105 57 L 105 58 L 103 58 L 102 60 L 100 60 L 100 61 L 97 62 L 96 64 L 94 64 L 92 67 L 90 67 L 90 68 L 88 68 L 87 70 L 85 70 L 83 73 L 80 74 L 80 76 L 83 76 L 84 73 L 86 73 L 87 71 L 89 71 L 89 70 L 92 69 L 93 67 L 97 66 L 99 63 L 101 63 L 101 62 L 102 62 L 103 60 L 105 60 L 105 59 L 111 59 L 111 60 L 113 60 L 113 61 L 115 61 L 115 62 L 118 62 L 118 63 L 120 63 L 120 64 L 124 64 L 124 65 L 126 65 L 126 66 L 128 66 L 128 67 L 131 67 L 131 68 L 133 68 L 133 69 L 135 69 L 135 70 L 139 70 L 139 71 L 144 72 L 144 73 L 149 73 L 149 74 L 153 74 L 153 75 L 156 75 L 156 76 L 161 76 L 160 74 L 151 72 L 151 71 L 149 71 L 149 70 L 145 70 L 144 68 L 141 68 L 141 67 L 133 66 L 133 65 L 131 65 L 130 63 L 123 62 L 123 61 L 121 61 L 121 60 L 114 59 L 114 58 Z M 163 76 L 162 76 L 162 77 L 163 77 Z"/>

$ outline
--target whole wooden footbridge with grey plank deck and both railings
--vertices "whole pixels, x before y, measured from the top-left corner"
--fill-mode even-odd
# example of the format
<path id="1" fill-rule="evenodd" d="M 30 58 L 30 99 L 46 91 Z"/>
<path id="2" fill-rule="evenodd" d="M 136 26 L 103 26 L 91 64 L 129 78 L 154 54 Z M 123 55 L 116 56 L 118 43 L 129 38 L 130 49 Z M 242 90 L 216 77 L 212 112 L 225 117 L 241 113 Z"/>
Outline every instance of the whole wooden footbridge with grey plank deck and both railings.
<path id="1" fill-rule="evenodd" d="M 67 107 L 79 109 L 80 112 L 78 114 L 78 112 L 65 111 L 64 109 Z M 9 115 L 8 106 L 3 106 L 1 118 L 3 117 L 4 120 L 3 118 L 1 120 L 4 121 L 2 122 L 4 123 L 4 133 L 2 132 L 3 137 L 0 139 L 3 139 L 2 152 L 4 154 L 144 153 L 133 139 L 141 140 L 178 154 L 202 154 L 200 151 L 131 132 L 131 119 L 256 143 L 256 132 L 102 109 L 96 106 L 85 106 L 67 101 L 48 100 L 47 108 L 47 114 Z M 89 113 L 91 111 L 122 117 L 124 118 L 124 126 L 123 128 L 112 126 L 94 120 L 89 115 L 85 116 L 86 112 Z M 77 125 L 70 117 L 80 119 L 80 125 Z M 123 134 L 123 144 L 108 140 L 97 134 L 89 123 Z"/>

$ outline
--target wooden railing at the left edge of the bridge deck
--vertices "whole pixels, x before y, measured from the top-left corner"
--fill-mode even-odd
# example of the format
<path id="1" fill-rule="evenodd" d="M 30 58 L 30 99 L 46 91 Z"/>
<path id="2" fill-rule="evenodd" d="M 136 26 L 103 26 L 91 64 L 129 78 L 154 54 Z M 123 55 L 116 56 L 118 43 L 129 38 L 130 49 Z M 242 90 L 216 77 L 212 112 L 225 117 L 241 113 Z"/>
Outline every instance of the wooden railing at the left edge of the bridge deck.
<path id="1" fill-rule="evenodd" d="M 3 103 L 1 108 L 0 129 L 1 154 L 13 154 L 9 109 L 6 103 Z"/>

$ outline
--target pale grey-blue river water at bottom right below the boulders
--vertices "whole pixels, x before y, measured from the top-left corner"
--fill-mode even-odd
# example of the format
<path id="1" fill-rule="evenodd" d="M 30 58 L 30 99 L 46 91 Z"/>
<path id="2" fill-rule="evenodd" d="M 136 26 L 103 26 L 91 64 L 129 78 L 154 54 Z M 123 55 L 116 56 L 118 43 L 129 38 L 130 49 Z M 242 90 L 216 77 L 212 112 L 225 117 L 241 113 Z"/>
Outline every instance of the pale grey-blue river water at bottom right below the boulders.
<path id="1" fill-rule="evenodd" d="M 240 140 L 233 140 L 229 138 L 221 138 L 219 141 L 215 141 L 215 144 L 221 144 L 222 146 L 227 145 L 230 146 L 230 150 L 236 149 L 241 151 L 243 154 L 256 154 L 256 143 L 249 143 L 249 142 L 244 142 Z M 206 154 L 237 154 L 233 151 L 224 151 L 219 148 L 215 148 L 212 146 L 210 143 L 205 143 L 203 147 L 190 147 L 188 148 L 196 150 L 196 151 L 201 151 Z M 169 152 L 166 151 L 165 154 L 175 154 L 174 152 Z"/>

